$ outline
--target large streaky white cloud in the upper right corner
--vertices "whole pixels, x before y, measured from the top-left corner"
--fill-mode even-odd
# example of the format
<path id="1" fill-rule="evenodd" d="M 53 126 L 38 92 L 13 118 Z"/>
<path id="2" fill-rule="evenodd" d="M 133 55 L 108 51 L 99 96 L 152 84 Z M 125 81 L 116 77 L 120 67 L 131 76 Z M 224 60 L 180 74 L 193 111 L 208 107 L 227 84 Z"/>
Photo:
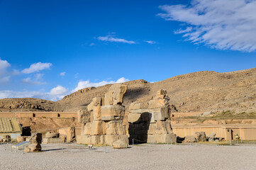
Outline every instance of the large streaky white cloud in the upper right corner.
<path id="1" fill-rule="evenodd" d="M 204 43 L 220 50 L 252 52 L 256 50 L 256 1 L 193 0 L 191 5 L 164 5 L 166 13 L 158 16 L 167 21 L 187 23 L 186 40 Z"/>

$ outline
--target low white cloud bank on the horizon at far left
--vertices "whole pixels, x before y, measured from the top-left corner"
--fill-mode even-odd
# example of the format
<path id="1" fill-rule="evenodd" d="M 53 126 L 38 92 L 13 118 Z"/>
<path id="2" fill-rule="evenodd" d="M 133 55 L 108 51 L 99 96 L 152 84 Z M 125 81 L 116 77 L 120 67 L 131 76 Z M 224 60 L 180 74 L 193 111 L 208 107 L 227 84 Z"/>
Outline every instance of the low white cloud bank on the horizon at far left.
<path id="1" fill-rule="evenodd" d="M 50 92 L 42 91 L 0 91 L 0 98 L 43 98 L 50 101 L 58 101 L 68 94 L 68 89 L 56 86 Z"/>

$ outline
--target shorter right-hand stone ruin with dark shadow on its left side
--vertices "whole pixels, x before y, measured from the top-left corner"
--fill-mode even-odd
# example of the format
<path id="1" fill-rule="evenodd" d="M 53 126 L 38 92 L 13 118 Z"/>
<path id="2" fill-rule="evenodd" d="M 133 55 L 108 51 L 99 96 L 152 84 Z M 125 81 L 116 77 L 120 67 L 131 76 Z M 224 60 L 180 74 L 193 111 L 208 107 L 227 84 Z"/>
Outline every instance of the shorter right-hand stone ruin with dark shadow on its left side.
<path id="1" fill-rule="evenodd" d="M 176 141 L 172 132 L 169 97 L 167 91 L 159 90 L 155 98 L 143 109 L 142 103 L 131 103 L 128 115 L 129 140 L 132 142 L 170 143 Z"/>

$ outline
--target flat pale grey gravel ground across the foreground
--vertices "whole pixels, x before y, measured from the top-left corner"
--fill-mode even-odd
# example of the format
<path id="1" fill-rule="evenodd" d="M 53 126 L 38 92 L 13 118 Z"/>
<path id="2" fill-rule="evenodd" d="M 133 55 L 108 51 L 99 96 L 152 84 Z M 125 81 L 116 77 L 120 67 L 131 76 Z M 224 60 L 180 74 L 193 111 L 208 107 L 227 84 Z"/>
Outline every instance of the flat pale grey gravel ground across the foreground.
<path id="1" fill-rule="evenodd" d="M 42 145 L 16 152 L 0 145 L 0 169 L 256 169 L 256 146 L 135 145 L 128 149 Z M 106 153 L 105 153 L 106 151 Z"/>

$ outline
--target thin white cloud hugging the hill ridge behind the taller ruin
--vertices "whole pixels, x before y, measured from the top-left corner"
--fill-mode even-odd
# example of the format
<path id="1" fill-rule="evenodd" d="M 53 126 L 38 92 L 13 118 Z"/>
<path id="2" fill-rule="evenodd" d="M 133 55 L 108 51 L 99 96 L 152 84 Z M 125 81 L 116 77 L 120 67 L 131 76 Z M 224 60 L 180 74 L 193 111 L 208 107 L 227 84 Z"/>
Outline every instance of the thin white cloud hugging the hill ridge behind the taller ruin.
<path id="1" fill-rule="evenodd" d="M 104 86 L 106 84 L 117 84 L 117 83 L 124 83 L 126 81 L 129 81 L 129 79 L 126 79 L 124 77 L 121 77 L 120 79 L 118 79 L 117 81 L 101 81 L 98 83 L 91 83 L 89 80 L 87 81 L 79 81 L 77 84 L 77 87 L 75 89 L 73 89 L 71 92 L 74 93 L 75 91 L 78 91 L 80 89 L 84 89 L 87 87 L 97 87 L 97 86 Z"/>

